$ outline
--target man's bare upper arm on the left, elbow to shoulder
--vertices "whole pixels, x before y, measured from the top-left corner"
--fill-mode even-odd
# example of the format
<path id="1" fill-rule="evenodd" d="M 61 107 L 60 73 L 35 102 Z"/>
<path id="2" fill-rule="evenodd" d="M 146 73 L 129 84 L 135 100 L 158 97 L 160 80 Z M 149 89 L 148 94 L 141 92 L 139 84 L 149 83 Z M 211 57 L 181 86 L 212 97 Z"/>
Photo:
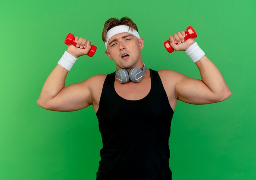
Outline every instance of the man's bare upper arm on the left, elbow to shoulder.
<path id="1" fill-rule="evenodd" d="M 77 111 L 92 104 L 92 92 L 87 80 L 64 87 L 54 98 L 49 100 L 48 108 L 52 111 Z"/>

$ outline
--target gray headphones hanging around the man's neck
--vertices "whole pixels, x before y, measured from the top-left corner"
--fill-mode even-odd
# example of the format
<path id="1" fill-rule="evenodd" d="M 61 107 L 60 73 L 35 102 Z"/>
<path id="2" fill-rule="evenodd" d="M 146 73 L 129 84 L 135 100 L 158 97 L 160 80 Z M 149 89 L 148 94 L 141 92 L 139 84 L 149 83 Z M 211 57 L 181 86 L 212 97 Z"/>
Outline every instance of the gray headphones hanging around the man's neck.
<path id="1" fill-rule="evenodd" d="M 144 62 L 142 62 L 142 63 L 143 63 L 143 68 L 142 69 L 134 67 L 130 70 L 129 74 L 126 71 L 126 69 L 120 69 L 119 71 L 116 70 L 117 80 L 120 83 L 126 83 L 129 80 L 131 80 L 132 82 L 140 82 L 143 75 L 146 72 L 146 65 L 145 65 Z"/>

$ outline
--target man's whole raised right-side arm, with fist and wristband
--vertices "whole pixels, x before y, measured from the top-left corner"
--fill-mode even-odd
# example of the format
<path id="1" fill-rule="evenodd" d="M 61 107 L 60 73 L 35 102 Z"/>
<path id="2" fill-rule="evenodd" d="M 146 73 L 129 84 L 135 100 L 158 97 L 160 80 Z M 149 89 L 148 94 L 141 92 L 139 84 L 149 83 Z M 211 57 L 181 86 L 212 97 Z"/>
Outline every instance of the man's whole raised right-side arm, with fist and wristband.
<path id="1" fill-rule="evenodd" d="M 184 41 L 185 31 L 178 32 L 170 36 L 170 45 L 176 51 L 186 51 L 189 47 L 197 47 L 189 49 L 190 57 L 195 60 L 202 80 L 189 78 L 180 73 L 176 73 L 175 96 L 178 100 L 191 104 L 209 104 L 223 101 L 231 96 L 231 91 L 227 86 L 224 78 L 217 67 L 204 55 L 203 51 L 194 44 L 195 41 L 191 38 Z M 175 43 L 178 44 L 175 44 Z M 195 51 L 194 51 L 195 50 Z M 194 53 L 192 53 L 194 52 Z M 200 54 L 197 57 L 197 53 Z M 204 56 L 203 56 L 204 55 Z"/>

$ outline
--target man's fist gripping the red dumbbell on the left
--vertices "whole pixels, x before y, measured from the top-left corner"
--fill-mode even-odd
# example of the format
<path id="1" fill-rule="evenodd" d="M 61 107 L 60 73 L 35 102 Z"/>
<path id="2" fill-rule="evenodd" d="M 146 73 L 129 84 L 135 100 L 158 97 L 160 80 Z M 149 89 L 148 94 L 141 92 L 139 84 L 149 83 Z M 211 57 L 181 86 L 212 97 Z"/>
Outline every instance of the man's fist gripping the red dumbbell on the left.
<path id="1" fill-rule="evenodd" d="M 91 49 L 91 42 L 90 40 L 86 40 L 84 38 L 75 37 L 76 47 L 72 44 L 68 45 L 67 52 L 70 53 L 72 56 L 78 58 L 80 56 L 88 54 Z M 85 49 L 83 49 L 85 48 Z"/>

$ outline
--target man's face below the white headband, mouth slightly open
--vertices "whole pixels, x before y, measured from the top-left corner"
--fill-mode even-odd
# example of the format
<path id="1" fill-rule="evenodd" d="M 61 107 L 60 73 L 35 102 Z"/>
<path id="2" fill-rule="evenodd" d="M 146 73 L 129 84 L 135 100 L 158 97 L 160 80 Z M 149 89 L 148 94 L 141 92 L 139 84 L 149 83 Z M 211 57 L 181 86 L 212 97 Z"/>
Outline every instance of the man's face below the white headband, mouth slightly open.
<path id="1" fill-rule="evenodd" d="M 129 69 L 141 60 L 140 50 L 144 47 L 144 40 L 139 40 L 130 33 L 119 33 L 108 41 L 106 55 L 115 61 L 117 69 Z"/>

